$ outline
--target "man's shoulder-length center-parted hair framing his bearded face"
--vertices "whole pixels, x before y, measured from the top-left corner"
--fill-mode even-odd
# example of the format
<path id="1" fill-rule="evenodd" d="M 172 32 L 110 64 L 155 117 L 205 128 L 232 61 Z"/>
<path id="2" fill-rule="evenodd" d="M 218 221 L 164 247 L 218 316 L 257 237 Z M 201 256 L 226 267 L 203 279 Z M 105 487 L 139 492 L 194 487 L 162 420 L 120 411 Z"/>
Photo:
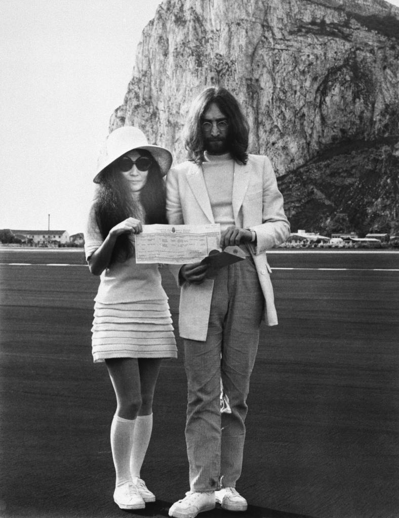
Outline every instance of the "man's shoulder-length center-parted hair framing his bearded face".
<path id="1" fill-rule="evenodd" d="M 248 161 L 249 124 L 237 99 L 225 88 L 207 88 L 194 99 L 183 130 L 188 159 L 196 164 L 204 161 L 204 140 L 201 121 L 211 103 L 215 103 L 229 122 L 227 142 L 233 159 L 239 164 Z"/>

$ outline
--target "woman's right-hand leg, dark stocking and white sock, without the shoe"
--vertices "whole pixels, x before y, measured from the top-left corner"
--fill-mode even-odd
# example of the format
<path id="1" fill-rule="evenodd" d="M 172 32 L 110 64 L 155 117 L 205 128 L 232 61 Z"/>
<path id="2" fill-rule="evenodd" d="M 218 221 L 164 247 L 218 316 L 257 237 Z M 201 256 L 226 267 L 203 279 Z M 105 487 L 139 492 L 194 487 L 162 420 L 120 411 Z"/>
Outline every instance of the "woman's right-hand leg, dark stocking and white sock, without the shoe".
<path id="1" fill-rule="evenodd" d="M 152 401 L 161 358 L 139 358 L 141 407 L 138 411 L 133 435 L 130 471 L 133 479 L 140 478 L 141 466 L 147 452 L 152 432 Z"/>

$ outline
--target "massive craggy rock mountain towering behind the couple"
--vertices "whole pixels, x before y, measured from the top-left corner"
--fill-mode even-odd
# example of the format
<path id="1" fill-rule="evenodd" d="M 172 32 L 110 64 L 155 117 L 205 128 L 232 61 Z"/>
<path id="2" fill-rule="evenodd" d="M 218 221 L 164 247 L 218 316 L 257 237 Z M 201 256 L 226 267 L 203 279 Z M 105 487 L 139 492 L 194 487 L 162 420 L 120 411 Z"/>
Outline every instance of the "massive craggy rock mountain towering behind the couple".
<path id="1" fill-rule="evenodd" d="M 379 230 L 375 218 L 360 217 L 360 224 L 345 204 L 338 207 L 336 192 L 329 191 L 343 176 L 356 179 L 356 191 L 365 165 L 379 178 L 378 192 L 395 193 L 388 196 L 393 206 L 385 218 L 394 229 L 398 8 L 383 0 L 164 0 L 143 32 L 124 104 L 110 129 L 144 127 L 179 162 L 191 100 L 210 85 L 237 96 L 251 126 L 249 151 L 267 154 L 276 174 L 284 175 L 281 189 L 293 229 L 328 227 L 328 217 L 307 211 L 317 192 L 330 222 L 338 212 L 352 230 Z"/>

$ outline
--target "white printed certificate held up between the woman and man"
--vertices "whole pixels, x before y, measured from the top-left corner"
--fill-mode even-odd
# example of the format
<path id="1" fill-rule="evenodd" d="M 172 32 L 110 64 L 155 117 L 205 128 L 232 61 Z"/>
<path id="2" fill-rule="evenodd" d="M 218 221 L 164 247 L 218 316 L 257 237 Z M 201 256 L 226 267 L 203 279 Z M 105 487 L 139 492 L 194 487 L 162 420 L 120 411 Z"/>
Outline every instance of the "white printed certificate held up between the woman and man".
<path id="1" fill-rule="evenodd" d="M 135 235 L 136 263 L 198 263 L 219 248 L 220 225 L 143 225 Z"/>

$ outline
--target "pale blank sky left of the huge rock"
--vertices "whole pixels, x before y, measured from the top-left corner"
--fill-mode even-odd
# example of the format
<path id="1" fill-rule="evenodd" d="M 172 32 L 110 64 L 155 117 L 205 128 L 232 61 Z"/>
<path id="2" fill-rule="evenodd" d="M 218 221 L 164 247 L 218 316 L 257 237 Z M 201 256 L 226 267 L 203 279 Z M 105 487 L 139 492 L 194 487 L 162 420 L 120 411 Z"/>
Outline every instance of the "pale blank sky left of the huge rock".
<path id="1" fill-rule="evenodd" d="M 83 232 L 97 155 L 160 0 L 0 0 L 0 228 Z M 399 0 L 391 3 L 399 7 Z"/>

